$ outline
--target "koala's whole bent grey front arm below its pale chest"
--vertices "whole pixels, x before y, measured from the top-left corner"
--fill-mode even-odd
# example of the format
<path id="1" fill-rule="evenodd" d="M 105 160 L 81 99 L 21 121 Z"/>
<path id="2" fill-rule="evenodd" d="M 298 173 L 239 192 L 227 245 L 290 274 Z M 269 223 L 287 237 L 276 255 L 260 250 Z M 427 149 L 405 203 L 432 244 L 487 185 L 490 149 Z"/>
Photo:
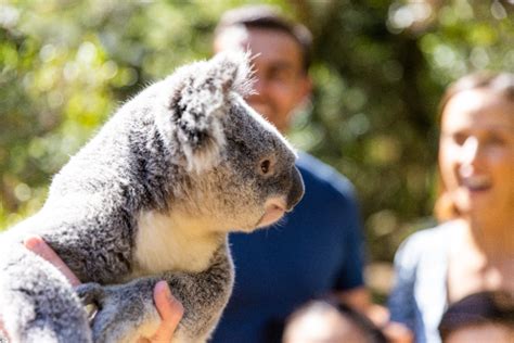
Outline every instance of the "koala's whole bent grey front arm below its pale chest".
<path id="1" fill-rule="evenodd" d="M 209 267 L 197 274 L 164 272 L 125 284 L 86 283 L 77 291 L 86 303 L 97 303 L 92 325 L 95 342 L 134 342 L 155 332 L 160 319 L 153 303 L 155 284 L 165 280 L 182 303 L 184 315 L 174 343 L 205 342 L 216 327 L 233 283 L 233 266 L 227 244 L 214 254 Z"/>

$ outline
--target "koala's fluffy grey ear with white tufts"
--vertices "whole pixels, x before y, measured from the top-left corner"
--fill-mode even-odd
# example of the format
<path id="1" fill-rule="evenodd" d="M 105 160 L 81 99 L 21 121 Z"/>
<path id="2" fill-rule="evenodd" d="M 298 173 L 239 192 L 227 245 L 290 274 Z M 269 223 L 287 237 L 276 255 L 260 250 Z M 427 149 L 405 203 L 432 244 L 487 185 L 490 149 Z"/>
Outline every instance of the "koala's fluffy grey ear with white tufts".
<path id="1" fill-rule="evenodd" d="M 244 96 L 250 89 L 248 56 L 243 52 L 217 54 L 182 67 L 172 77 L 176 87 L 171 99 L 167 98 L 169 129 L 188 169 L 200 173 L 216 166 L 221 157 L 223 117 L 229 115 L 234 92 Z"/>

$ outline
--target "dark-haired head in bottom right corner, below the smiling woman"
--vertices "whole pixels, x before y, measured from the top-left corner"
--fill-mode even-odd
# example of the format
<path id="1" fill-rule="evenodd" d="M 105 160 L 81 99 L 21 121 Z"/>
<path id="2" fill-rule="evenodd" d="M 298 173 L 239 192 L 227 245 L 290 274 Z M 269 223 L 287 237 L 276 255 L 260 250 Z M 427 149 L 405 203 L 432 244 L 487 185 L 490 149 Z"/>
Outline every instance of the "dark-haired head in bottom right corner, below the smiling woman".
<path id="1" fill-rule="evenodd" d="M 450 305 L 439 333 L 444 343 L 513 343 L 514 293 L 479 292 Z"/>

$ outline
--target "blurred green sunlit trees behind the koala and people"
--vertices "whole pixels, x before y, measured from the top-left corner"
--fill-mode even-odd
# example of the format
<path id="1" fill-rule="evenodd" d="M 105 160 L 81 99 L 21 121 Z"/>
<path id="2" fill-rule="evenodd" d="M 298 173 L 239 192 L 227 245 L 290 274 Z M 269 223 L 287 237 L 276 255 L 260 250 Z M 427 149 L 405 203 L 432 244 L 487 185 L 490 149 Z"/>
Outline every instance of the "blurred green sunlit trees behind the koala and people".
<path id="1" fill-rule="evenodd" d="M 512 0 L 0 2 L 0 228 L 120 102 L 208 58 L 220 14 L 271 3 L 314 35 L 312 106 L 291 139 L 357 188 L 370 258 L 431 225 L 437 102 L 461 75 L 514 71 Z"/>

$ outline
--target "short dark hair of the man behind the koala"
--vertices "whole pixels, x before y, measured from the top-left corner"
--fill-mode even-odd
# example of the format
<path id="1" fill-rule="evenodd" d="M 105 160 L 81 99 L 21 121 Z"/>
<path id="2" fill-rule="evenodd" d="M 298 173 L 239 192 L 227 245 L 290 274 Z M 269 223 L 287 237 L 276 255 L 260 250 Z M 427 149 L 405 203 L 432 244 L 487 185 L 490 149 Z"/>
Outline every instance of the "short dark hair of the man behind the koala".
<path id="1" fill-rule="evenodd" d="M 311 63 L 312 35 L 299 23 L 288 21 L 277 8 L 270 5 L 245 5 L 224 12 L 215 29 L 215 37 L 231 27 L 264 28 L 280 30 L 290 35 L 299 46 L 305 72 Z"/>

